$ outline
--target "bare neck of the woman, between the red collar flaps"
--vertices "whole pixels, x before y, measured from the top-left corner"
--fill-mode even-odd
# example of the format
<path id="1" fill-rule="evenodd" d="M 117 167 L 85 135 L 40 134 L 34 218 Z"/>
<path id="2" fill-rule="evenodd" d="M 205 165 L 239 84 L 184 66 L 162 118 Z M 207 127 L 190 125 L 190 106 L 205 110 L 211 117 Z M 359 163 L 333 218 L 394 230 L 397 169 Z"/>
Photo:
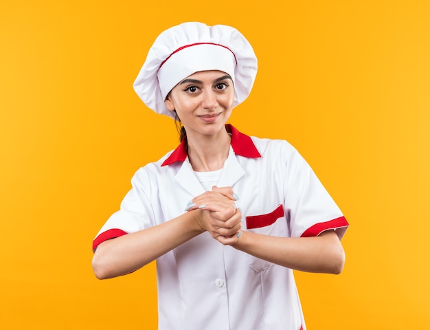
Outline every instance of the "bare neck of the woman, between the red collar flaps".
<path id="1" fill-rule="evenodd" d="M 196 172 L 209 172 L 223 168 L 229 155 L 231 137 L 225 129 L 216 135 L 207 135 L 198 139 L 187 135 L 188 158 Z"/>

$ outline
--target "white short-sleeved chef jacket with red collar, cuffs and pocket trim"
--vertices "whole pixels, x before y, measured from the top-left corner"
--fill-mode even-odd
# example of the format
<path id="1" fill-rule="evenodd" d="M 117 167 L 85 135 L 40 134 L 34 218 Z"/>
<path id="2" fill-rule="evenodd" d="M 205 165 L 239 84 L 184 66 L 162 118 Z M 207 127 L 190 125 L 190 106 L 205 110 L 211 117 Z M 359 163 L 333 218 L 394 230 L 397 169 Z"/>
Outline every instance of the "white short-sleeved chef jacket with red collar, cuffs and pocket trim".
<path id="1" fill-rule="evenodd" d="M 229 156 L 217 186 L 240 197 L 242 230 L 282 237 L 317 236 L 348 227 L 301 155 L 284 140 L 260 139 L 226 125 Z M 133 188 L 95 240 L 137 232 L 183 214 L 205 192 L 185 144 L 135 173 Z M 157 259 L 160 330 L 305 329 L 293 271 L 204 232 Z"/>

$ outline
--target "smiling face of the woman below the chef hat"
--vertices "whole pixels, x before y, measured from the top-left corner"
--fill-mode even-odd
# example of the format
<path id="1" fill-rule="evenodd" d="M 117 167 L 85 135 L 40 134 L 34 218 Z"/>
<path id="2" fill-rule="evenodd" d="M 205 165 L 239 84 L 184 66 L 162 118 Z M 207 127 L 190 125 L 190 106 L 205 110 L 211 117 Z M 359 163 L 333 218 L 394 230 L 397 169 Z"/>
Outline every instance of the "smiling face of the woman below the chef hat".
<path id="1" fill-rule="evenodd" d="M 233 81 L 225 72 L 196 72 L 176 85 L 165 102 L 170 111 L 177 112 L 188 138 L 214 135 L 231 115 Z"/>

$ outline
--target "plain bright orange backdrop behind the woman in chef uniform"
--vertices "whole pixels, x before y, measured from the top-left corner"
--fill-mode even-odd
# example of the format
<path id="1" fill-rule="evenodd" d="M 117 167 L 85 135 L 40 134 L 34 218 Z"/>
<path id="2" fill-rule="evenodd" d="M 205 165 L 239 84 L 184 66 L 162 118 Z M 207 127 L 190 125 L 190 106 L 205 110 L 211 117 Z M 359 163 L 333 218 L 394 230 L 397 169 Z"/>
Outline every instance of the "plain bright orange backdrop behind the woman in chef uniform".
<path id="1" fill-rule="evenodd" d="M 155 265 L 98 281 L 91 241 L 177 145 L 132 84 L 183 21 L 259 60 L 230 120 L 306 157 L 351 228 L 339 276 L 297 272 L 308 329 L 429 329 L 429 1 L 0 2 L 0 329 L 156 329 Z"/>

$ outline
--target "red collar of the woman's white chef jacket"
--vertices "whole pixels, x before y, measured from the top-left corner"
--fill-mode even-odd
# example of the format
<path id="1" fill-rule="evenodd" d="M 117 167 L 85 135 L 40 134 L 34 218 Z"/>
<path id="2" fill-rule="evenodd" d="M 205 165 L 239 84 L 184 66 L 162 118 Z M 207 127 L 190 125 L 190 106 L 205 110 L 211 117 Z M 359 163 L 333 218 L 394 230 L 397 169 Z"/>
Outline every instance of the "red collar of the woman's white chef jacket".
<path id="1" fill-rule="evenodd" d="M 228 133 L 231 133 L 231 148 L 236 155 L 249 158 L 261 157 L 255 144 L 253 144 L 251 137 L 240 133 L 231 124 L 226 124 L 225 129 Z M 185 149 L 185 139 L 182 140 L 181 144 L 174 149 L 170 156 L 161 164 L 161 166 L 171 165 L 174 162 L 183 162 L 187 158 L 187 151 Z"/>

